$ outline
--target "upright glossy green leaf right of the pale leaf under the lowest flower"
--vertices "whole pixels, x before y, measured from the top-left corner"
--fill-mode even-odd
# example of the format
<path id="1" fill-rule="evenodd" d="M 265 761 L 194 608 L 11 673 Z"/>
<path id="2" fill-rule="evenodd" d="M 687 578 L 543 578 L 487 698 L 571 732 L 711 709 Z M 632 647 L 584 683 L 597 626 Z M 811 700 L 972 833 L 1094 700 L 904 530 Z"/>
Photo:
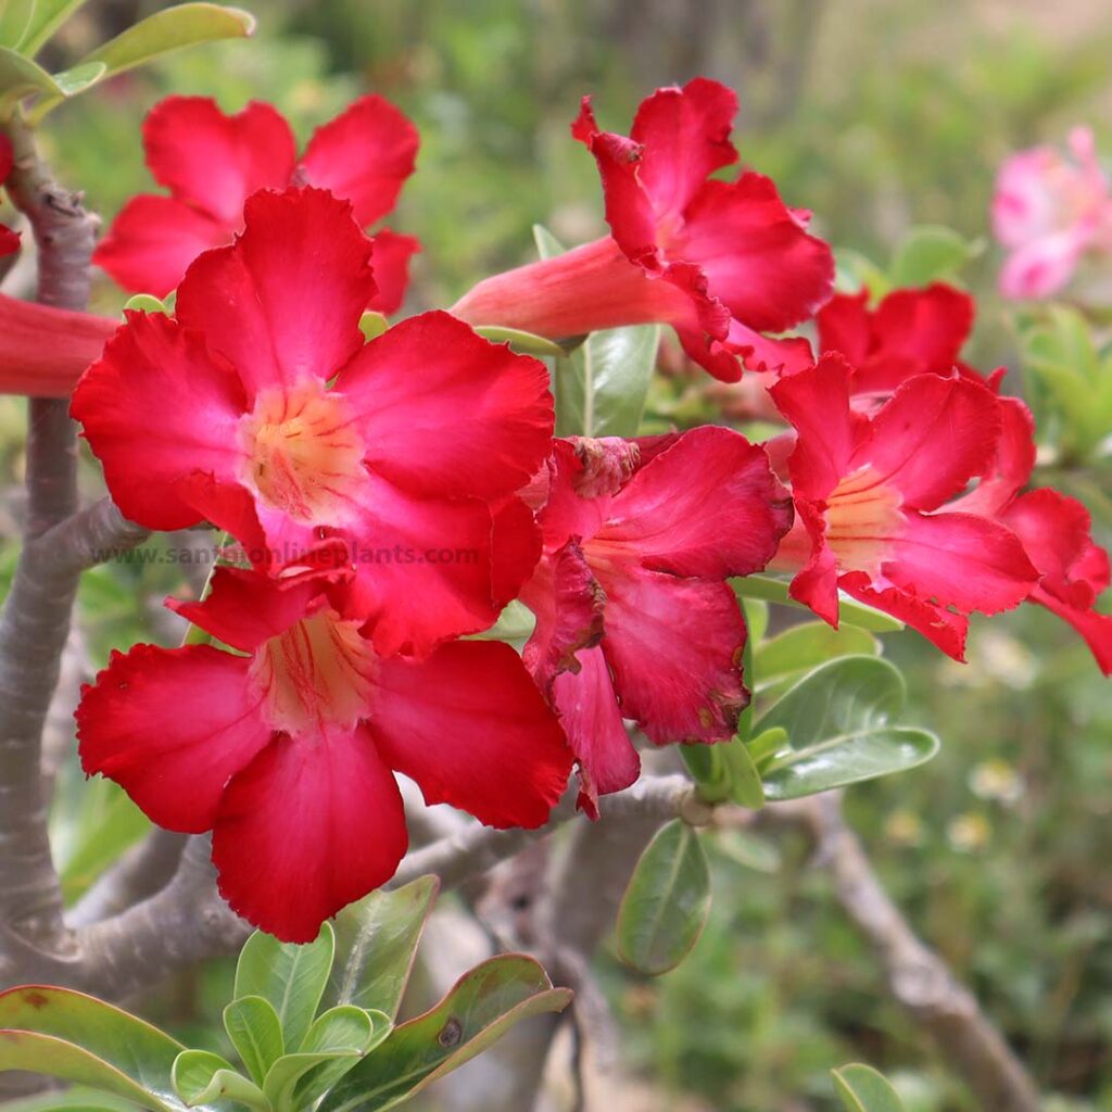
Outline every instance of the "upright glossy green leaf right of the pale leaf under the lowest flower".
<path id="1" fill-rule="evenodd" d="M 390 1020 L 398 1014 L 437 886 L 435 876 L 421 876 L 400 888 L 371 892 L 336 916 L 327 1003 L 376 1009 Z"/>

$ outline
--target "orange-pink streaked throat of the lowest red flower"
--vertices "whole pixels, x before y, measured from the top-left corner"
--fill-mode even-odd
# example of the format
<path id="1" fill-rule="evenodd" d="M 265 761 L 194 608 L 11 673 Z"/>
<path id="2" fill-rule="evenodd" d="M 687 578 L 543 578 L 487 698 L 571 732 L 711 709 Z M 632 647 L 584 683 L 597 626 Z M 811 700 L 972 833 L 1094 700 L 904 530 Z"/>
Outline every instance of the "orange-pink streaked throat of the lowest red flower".
<path id="1" fill-rule="evenodd" d="M 255 654 L 251 678 L 264 692 L 275 729 L 304 733 L 321 726 L 351 728 L 368 713 L 375 654 L 332 609 L 304 618 Z"/>

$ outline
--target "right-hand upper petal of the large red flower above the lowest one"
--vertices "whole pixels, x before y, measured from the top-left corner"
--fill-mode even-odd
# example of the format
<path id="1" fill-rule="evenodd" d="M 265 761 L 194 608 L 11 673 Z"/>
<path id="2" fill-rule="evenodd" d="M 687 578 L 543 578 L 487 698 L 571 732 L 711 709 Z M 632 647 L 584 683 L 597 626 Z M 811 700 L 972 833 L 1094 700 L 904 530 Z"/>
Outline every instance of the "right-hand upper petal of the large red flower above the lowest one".
<path id="1" fill-rule="evenodd" d="M 363 418 L 367 465 L 424 496 L 507 495 L 552 443 L 544 364 L 447 312 L 410 317 L 371 340 L 336 389 Z"/>

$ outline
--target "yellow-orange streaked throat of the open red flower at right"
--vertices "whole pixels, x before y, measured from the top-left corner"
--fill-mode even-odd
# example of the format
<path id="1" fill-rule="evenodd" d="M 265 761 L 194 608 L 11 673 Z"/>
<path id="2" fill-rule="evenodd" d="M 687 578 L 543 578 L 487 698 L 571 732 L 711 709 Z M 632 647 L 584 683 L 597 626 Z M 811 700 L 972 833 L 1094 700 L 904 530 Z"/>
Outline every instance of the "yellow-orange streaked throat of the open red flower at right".
<path id="1" fill-rule="evenodd" d="M 866 464 L 842 478 L 826 499 L 826 544 L 842 572 L 876 578 L 903 517 L 900 492 Z"/>

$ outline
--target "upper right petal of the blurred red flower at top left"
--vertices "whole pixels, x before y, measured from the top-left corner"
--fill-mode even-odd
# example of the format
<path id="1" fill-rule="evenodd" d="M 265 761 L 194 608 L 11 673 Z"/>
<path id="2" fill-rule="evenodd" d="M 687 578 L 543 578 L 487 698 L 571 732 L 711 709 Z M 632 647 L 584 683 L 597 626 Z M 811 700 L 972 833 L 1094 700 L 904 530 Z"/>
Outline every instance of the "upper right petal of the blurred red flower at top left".
<path id="1" fill-rule="evenodd" d="M 370 95 L 317 128 L 299 169 L 309 185 L 350 201 L 356 224 L 366 228 L 394 208 L 419 146 L 409 119 L 385 98 Z"/>

